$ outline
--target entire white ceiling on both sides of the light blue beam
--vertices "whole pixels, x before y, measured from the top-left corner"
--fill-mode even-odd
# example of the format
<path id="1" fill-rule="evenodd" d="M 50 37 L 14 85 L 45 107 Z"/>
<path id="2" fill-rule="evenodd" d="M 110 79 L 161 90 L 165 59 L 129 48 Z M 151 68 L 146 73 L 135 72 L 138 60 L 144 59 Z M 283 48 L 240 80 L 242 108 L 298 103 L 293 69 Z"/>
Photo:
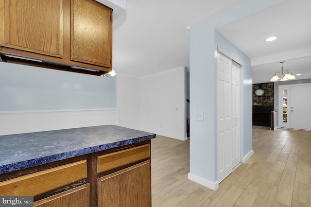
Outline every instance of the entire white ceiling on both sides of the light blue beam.
<path id="1" fill-rule="evenodd" d="M 113 68 L 137 77 L 189 68 L 186 27 L 238 1 L 127 0 L 126 12 L 113 22 Z M 302 74 L 297 79 L 311 78 L 310 10 L 311 0 L 284 0 L 217 31 L 251 58 L 253 83 L 269 82 L 284 60 L 284 69 Z M 263 41 L 271 35 L 278 39 Z"/>

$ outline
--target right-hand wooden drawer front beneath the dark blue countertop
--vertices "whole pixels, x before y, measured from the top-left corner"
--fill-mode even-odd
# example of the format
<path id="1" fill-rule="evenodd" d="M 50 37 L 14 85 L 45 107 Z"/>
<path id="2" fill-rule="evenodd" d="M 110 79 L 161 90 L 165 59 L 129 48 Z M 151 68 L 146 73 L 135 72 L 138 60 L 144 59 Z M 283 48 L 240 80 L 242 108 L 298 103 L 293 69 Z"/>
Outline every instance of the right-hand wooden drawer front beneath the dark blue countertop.
<path id="1" fill-rule="evenodd" d="M 98 156 L 97 172 L 101 173 L 149 157 L 149 144 L 133 147 L 107 155 Z"/>

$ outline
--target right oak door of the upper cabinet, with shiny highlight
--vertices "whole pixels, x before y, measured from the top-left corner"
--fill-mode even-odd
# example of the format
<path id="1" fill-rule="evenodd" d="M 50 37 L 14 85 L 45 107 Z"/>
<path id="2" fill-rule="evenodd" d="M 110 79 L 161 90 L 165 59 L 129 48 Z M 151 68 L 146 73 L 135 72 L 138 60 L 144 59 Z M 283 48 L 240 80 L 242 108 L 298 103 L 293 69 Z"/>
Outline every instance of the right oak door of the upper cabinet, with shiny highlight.
<path id="1" fill-rule="evenodd" d="M 71 0 L 70 59 L 111 67 L 112 10 L 93 0 Z"/>

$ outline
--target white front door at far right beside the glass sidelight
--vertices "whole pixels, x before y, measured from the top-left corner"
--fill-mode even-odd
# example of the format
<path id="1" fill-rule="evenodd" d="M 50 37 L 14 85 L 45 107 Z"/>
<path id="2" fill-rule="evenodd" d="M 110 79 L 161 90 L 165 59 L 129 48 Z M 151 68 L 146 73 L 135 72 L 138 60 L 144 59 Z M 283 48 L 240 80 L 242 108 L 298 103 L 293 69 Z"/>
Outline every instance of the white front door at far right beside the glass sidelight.
<path id="1" fill-rule="evenodd" d="M 291 128 L 311 130 L 311 84 L 291 86 Z"/>

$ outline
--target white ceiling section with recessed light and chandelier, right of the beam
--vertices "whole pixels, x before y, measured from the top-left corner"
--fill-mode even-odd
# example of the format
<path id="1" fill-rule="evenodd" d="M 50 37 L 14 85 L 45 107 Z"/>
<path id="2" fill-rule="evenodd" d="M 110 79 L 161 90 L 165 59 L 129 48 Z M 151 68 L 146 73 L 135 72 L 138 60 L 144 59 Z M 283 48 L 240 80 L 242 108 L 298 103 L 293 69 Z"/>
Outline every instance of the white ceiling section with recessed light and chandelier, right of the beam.
<path id="1" fill-rule="evenodd" d="M 311 0 L 285 0 L 217 28 L 252 60 L 253 83 L 269 82 L 284 70 L 311 78 Z M 266 37 L 278 36 L 272 42 Z"/>

